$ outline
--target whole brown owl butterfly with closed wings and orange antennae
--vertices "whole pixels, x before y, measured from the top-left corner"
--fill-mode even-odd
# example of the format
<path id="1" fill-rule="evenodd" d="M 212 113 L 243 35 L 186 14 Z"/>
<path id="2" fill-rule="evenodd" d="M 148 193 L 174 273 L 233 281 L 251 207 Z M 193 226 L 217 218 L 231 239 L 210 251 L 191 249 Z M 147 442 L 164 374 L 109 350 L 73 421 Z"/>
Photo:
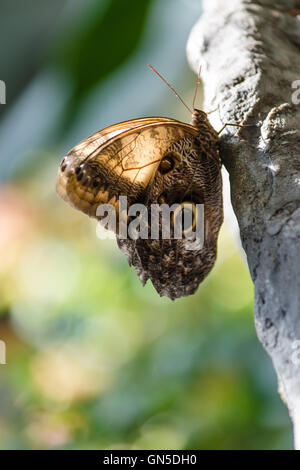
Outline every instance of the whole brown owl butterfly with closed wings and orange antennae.
<path id="1" fill-rule="evenodd" d="M 119 248 L 143 285 L 151 279 L 157 292 L 171 299 L 194 294 L 210 272 L 223 221 L 219 136 L 207 114 L 195 109 L 199 79 L 200 72 L 193 111 L 188 108 L 191 124 L 163 117 L 115 124 L 76 145 L 58 171 L 58 194 L 90 217 L 97 218 L 97 207 L 105 203 L 118 214 L 120 196 L 149 209 L 189 203 L 193 214 L 197 204 L 204 205 L 204 244 L 198 249 L 187 249 L 188 240 L 172 232 L 169 239 L 121 239 L 116 229 Z"/>

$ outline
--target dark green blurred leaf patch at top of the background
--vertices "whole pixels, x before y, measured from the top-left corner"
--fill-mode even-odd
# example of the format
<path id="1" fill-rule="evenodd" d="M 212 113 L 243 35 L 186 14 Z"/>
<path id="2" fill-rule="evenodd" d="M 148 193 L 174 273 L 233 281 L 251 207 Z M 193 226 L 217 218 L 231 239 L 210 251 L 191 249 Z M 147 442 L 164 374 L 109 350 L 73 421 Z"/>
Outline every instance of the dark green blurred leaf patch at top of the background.
<path id="1" fill-rule="evenodd" d="M 151 0 L 97 2 L 89 10 L 89 21 L 80 21 L 63 44 L 58 41 L 54 62 L 72 76 L 77 99 L 136 49 L 150 4 Z M 105 60 L 99 56 L 103 47 Z"/>

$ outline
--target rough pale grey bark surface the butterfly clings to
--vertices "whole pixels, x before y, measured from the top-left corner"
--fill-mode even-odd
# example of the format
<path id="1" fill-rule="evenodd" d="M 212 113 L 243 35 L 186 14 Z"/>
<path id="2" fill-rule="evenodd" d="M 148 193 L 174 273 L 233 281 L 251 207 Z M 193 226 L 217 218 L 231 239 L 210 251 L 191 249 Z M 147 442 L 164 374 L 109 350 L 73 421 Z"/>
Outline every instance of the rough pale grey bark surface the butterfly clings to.
<path id="1" fill-rule="evenodd" d="M 226 128 L 221 156 L 255 285 L 258 337 L 273 360 L 299 449 L 300 104 L 293 103 L 292 83 L 300 80 L 300 2 L 203 3 L 188 59 L 195 72 L 202 64 L 205 109 L 218 108 L 215 127 L 247 126 Z"/>

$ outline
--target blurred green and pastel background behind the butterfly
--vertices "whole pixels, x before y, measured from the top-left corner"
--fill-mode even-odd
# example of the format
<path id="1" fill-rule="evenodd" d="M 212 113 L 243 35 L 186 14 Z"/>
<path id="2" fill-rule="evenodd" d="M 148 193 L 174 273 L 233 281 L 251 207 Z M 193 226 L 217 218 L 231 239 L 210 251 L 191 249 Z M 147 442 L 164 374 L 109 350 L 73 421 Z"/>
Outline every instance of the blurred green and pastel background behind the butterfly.
<path id="1" fill-rule="evenodd" d="M 118 121 L 190 116 L 200 0 L 1 0 L 1 449 L 292 446 L 227 211 L 215 269 L 171 302 L 55 193 L 64 153 Z M 226 189 L 226 188 L 225 188 Z"/>

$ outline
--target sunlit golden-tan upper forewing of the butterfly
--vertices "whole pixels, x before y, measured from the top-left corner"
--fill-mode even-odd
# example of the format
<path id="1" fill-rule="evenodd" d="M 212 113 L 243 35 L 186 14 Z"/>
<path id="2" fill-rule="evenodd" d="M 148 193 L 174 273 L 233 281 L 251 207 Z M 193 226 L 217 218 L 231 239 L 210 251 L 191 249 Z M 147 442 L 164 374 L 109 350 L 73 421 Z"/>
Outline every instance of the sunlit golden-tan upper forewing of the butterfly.
<path id="1" fill-rule="evenodd" d="M 120 195 L 142 200 L 170 145 L 197 135 L 194 126 L 169 118 L 141 118 L 107 127 L 80 142 L 63 158 L 57 192 L 95 217 L 101 203 Z"/>

